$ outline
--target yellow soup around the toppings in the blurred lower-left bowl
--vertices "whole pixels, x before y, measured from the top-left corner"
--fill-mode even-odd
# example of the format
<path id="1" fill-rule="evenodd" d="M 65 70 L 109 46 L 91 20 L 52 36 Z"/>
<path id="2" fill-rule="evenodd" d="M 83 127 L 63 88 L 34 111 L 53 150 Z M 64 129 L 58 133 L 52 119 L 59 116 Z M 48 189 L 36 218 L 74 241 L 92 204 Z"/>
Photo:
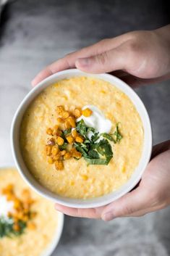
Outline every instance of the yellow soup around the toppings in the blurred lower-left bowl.
<path id="1" fill-rule="evenodd" d="M 1 189 L 14 185 L 14 193 L 21 197 L 23 189 L 29 189 L 22 181 L 17 170 L 12 168 L 0 169 L 0 193 Z M 32 210 L 36 212 L 34 218 L 35 229 L 25 229 L 24 234 L 9 238 L 0 238 L 1 256 L 41 256 L 51 243 L 58 226 L 57 212 L 54 204 L 30 190 L 31 197 L 35 200 Z"/>

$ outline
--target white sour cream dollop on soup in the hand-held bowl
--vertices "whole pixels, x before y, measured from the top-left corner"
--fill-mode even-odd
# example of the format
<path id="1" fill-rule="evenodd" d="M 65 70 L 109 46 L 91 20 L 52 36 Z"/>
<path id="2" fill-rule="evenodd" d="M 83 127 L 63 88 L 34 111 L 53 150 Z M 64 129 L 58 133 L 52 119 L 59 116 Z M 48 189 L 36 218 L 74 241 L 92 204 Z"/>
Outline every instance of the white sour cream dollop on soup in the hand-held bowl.
<path id="1" fill-rule="evenodd" d="M 107 119 L 105 115 L 103 115 L 101 110 L 93 105 L 85 105 L 84 107 L 82 107 L 82 110 L 85 110 L 86 108 L 92 110 L 92 115 L 90 115 L 89 117 L 81 115 L 79 118 L 77 118 L 77 122 L 80 120 L 84 120 L 85 124 L 89 127 L 95 128 L 95 131 L 98 131 L 99 133 L 110 133 L 111 121 Z"/>

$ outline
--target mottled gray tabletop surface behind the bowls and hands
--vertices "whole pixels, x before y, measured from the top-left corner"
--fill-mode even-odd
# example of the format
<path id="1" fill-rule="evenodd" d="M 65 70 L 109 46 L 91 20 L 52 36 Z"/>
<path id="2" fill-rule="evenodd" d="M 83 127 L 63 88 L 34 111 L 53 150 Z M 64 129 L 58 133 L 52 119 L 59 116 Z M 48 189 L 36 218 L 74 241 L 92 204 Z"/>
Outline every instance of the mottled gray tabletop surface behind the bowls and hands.
<path id="1" fill-rule="evenodd" d="M 69 51 L 129 30 L 170 22 L 168 1 L 12 1 L 0 24 L 0 165 L 12 163 L 14 112 L 42 67 Z M 154 144 L 170 136 L 170 81 L 137 88 Z M 170 209 L 110 223 L 67 217 L 53 256 L 168 256 Z"/>

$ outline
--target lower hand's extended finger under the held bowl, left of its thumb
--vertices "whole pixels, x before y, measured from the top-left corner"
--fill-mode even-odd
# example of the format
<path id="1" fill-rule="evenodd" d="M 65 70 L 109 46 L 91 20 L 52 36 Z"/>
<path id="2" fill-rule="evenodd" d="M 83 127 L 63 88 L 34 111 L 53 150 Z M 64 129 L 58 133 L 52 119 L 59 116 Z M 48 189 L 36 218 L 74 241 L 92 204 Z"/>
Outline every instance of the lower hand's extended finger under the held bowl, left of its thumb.
<path id="1" fill-rule="evenodd" d="M 59 204 L 55 204 L 55 208 L 56 210 L 59 210 L 59 212 L 63 212 L 64 214 L 69 216 L 95 219 L 101 218 L 101 212 L 103 211 L 103 207 L 82 209 L 66 207 Z"/>

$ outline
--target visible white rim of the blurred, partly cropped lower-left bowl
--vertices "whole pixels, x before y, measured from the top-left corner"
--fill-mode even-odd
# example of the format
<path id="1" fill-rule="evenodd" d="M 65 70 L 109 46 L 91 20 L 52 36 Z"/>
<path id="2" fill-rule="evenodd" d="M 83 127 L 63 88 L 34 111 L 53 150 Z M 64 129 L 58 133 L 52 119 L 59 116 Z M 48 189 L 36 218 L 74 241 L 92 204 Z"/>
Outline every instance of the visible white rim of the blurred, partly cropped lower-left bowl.
<path id="1" fill-rule="evenodd" d="M 14 168 L 16 169 L 12 164 L 3 164 L 0 165 L 0 171 L 5 168 Z M 56 249 L 57 245 L 59 244 L 59 240 L 61 238 L 62 230 L 64 226 L 64 214 L 61 212 L 58 212 L 58 226 L 56 228 L 56 232 L 54 234 L 54 238 L 51 240 L 51 243 L 48 244 L 48 247 L 41 253 L 40 256 L 50 256 L 54 249 Z"/>

